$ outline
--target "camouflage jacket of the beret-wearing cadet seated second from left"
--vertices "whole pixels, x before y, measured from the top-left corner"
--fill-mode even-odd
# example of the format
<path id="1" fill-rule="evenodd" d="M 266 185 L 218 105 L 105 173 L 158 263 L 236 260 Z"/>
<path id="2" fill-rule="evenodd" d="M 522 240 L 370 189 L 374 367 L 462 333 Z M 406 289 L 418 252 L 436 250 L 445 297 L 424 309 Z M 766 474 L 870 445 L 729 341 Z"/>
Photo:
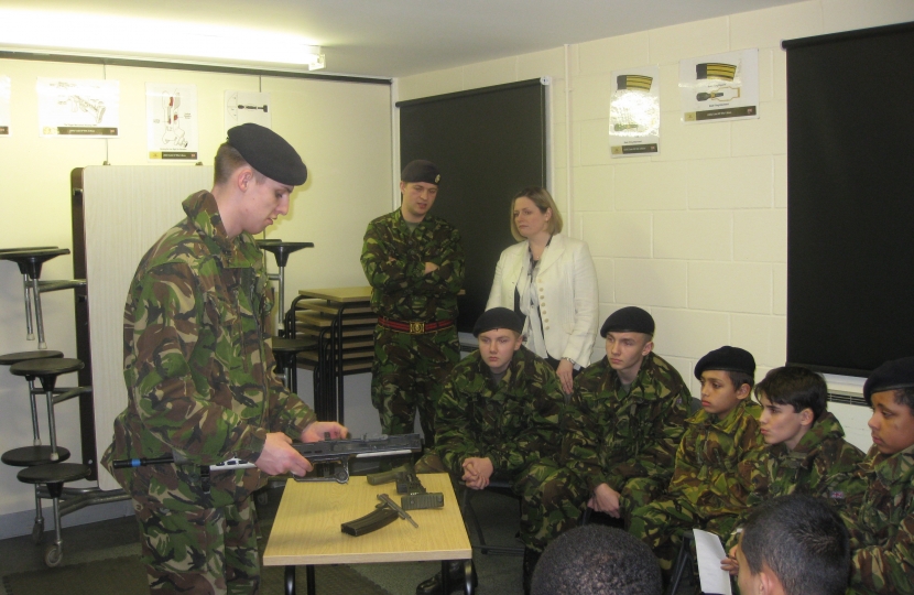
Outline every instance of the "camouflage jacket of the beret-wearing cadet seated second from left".
<path id="1" fill-rule="evenodd" d="M 632 477 L 651 478 L 663 489 L 690 400 L 679 372 L 653 353 L 628 394 L 606 357 L 588 366 L 572 393 L 564 446 L 570 465 L 590 489 L 605 483 L 622 491 Z"/>

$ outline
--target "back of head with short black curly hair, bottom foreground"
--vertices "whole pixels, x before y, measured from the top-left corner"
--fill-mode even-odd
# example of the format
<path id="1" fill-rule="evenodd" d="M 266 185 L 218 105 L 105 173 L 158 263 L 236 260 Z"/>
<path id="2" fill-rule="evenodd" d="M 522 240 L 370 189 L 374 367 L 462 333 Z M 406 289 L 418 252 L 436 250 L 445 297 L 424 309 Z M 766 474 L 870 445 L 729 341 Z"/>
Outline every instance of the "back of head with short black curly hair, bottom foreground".
<path id="1" fill-rule="evenodd" d="M 588 524 L 550 543 L 533 595 L 661 595 L 663 582 L 651 549 L 621 529 Z"/>

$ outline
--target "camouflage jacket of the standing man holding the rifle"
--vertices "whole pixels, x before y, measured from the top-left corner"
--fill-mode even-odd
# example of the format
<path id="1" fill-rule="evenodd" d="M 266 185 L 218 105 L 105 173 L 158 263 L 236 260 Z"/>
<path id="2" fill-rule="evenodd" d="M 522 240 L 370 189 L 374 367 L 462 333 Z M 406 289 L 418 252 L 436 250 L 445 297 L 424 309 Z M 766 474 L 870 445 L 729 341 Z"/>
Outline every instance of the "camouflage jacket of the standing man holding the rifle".
<path id="1" fill-rule="evenodd" d="M 112 458 L 173 452 L 189 464 L 112 470 L 134 496 L 225 506 L 261 485 L 259 469 L 218 472 L 209 496 L 198 465 L 257 461 L 268 432 L 298 437 L 314 413 L 273 372 L 262 252 L 226 237 L 208 192 L 183 203 L 187 218 L 137 269 L 123 313 L 127 409 L 115 420 Z M 167 504 L 166 504 L 167 505 Z"/>

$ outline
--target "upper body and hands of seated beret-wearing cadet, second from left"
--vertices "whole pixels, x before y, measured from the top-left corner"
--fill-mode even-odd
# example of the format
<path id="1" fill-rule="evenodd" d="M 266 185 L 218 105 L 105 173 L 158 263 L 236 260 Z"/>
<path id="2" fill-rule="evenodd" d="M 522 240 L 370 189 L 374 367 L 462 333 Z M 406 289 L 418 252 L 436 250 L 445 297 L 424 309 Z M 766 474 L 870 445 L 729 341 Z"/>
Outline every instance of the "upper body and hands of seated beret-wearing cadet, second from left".
<path id="1" fill-rule="evenodd" d="M 654 318 L 613 312 L 600 328 L 606 357 L 575 379 L 569 465 L 592 490 L 588 506 L 629 524 L 673 476 L 692 396 L 676 368 L 653 353 Z"/>

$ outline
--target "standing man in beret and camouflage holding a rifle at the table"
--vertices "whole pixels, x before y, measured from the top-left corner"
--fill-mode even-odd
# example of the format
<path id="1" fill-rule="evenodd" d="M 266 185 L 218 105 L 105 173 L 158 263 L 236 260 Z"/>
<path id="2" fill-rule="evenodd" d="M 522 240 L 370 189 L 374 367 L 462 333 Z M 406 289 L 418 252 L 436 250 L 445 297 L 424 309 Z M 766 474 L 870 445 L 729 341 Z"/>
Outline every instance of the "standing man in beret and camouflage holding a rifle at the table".
<path id="1" fill-rule="evenodd" d="M 346 435 L 318 422 L 273 372 L 264 343 L 272 291 L 253 234 L 289 212 L 307 170 L 268 128 L 229 130 L 210 192 L 146 252 L 123 315 L 127 408 L 102 464 L 133 498 L 151 593 L 257 593 L 258 524 L 250 495 L 266 477 L 312 469 L 291 443 Z M 113 459 L 179 453 L 187 464 L 113 469 Z M 213 474 L 232 457 L 257 465 Z"/>

